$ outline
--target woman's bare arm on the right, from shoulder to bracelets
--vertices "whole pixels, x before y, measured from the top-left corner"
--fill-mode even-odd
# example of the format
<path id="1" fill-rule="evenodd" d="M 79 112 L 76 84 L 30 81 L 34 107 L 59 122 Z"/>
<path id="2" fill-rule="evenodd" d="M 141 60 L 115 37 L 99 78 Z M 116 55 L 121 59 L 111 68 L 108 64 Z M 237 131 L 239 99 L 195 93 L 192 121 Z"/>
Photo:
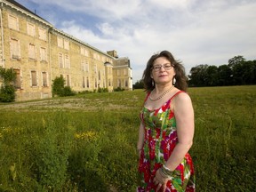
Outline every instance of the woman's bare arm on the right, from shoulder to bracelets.
<path id="1" fill-rule="evenodd" d="M 194 109 L 188 94 L 180 93 L 173 101 L 178 143 L 165 164 L 172 171 L 181 163 L 189 148 L 191 148 L 195 129 Z"/>

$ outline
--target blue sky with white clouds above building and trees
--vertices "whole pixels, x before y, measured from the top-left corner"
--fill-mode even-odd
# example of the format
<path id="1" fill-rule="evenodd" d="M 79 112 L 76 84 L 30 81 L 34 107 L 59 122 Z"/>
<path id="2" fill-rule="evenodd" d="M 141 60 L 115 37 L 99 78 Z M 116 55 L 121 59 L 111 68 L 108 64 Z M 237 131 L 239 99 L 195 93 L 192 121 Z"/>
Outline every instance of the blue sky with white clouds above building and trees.
<path id="1" fill-rule="evenodd" d="M 186 68 L 256 60 L 255 0 L 16 0 L 68 35 L 128 57 L 132 81 L 156 52 Z"/>

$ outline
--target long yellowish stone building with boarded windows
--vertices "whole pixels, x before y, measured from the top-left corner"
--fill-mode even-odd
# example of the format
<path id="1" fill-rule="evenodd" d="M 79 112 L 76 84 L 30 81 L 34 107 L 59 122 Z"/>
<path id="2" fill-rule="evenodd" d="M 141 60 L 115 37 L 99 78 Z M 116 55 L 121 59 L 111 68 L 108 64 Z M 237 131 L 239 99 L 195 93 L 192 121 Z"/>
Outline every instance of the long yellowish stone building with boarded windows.
<path id="1" fill-rule="evenodd" d="M 128 58 L 118 58 L 116 51 L 102 52 L 54 28 L 13 0 L 0 3 L 0 66 L 16 72 L 16 100 L 52 97 L 57 76 L 76 92 L 132 90 Z"/>

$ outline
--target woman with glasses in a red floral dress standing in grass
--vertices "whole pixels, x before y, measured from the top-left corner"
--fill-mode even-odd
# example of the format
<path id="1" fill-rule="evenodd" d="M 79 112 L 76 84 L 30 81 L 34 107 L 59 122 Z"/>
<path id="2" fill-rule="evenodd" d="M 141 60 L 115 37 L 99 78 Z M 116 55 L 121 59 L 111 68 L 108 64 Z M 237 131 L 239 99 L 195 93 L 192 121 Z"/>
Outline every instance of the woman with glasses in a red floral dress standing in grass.
<path id="1" fill-rule="evenodd" d="M 184 67 L 172 53 L 153 55 L 144 70 L 148 92 L 140 112 L 137 191 L 195 191 L 192 159 L 194 110 Z"/>

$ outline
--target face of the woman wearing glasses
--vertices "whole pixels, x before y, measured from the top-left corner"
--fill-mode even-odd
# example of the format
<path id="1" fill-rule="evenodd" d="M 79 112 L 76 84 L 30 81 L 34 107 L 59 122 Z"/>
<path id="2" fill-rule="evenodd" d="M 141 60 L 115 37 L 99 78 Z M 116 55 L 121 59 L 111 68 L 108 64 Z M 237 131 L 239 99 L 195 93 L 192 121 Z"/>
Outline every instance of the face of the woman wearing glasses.
<path id="1" fill-rule="evenodd" d="M 171 61 L 165 57 L 159 57 L 153 63 L 151 70 L 151 77 L 156 84 L 168 84 L 172 83 L 172 78 L 175 76 L 174 68 Z"/>

